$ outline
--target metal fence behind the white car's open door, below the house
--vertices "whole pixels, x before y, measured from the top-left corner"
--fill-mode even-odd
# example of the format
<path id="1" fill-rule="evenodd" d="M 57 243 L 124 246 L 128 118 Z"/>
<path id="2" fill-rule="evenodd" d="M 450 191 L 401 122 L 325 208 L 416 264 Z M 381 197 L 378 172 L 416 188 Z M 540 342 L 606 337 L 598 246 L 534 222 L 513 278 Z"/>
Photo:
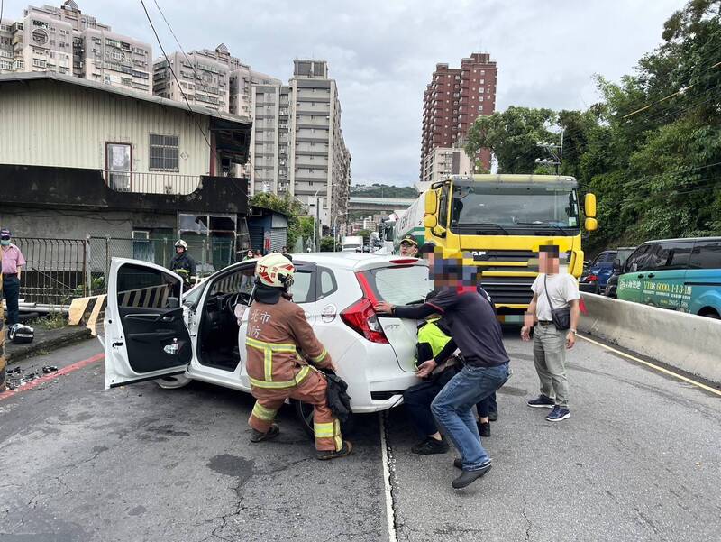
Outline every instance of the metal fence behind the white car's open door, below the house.
<path id="1" fill-rule="evenodd" d="M 235 262 L 233 237 L 189 237 L 188 253 L 205 277 Z M 26 260 L 20 298 L 39 306 L 67 306 L 73 298 L 105 293 L 113 258 L 130 258 L 168 267 L 173 237 L 14 238 Z"/>

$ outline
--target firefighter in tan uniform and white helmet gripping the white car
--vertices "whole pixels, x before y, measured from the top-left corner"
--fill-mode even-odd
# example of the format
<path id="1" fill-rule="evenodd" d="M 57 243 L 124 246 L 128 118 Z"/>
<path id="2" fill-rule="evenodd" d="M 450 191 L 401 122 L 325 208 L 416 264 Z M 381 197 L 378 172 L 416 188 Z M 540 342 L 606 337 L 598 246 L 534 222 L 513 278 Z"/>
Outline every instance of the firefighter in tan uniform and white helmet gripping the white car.
<path id="1" fill-rule="evenodd" d="M 273 423 L 287 399 L 313 405 L 313 428 L 318 459 L 351 454 L 341 425 L 326 399 L 325 376 L 316 367 L 336 370 L 330 354 L 318 341 L 303 309 L 288 299 L 295 267 L 285 256 L 271 253 L 255 268 L 255 292 L 248 315 L 245 345 L 251 391 L 256 399 L 251 418 L 251 442 L 278 436 Z M 309 363 L 310 362 L 310 363 Z"/>

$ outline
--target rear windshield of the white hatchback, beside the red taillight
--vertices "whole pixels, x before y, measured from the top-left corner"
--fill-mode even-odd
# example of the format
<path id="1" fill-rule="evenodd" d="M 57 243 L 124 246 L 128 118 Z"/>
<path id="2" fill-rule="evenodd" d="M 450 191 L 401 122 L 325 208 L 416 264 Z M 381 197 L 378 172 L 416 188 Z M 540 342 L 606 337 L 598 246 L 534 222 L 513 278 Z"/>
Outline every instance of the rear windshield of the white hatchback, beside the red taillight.
<path id="1" fill-rule="evenodd" d="M 382 267 L 363 271 L 363 275 L 376 297 L 392 305 L 423 303 L 428 292 L 434 289 L 424 265 Z"/>

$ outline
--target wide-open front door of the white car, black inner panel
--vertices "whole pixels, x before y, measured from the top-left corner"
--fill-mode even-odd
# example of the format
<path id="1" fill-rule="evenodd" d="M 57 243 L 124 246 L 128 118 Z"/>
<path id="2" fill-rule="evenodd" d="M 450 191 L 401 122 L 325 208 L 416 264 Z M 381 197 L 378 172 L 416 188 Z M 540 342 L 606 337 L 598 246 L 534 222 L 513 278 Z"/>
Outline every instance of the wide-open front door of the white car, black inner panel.
<path id="1" fill-rule="evenodd" d="M 114 258 L 105 309 L 105 389 L 186 371 L 193 355 L 183 281 L 148 262 Z"/>

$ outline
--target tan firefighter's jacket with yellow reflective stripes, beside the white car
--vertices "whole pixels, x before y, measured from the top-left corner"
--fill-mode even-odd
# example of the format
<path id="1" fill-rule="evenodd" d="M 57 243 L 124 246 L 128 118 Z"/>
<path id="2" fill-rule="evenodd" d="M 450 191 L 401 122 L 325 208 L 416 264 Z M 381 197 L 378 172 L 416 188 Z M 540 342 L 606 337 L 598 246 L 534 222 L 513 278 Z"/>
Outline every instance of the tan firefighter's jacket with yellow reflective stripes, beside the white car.
<path id="1" fill-rule="evenodd" d="M 303 309 L 281 297 L 275 305 L 254 301 L 245 337 L 247 370 L 256 388 L 292 388 L 315 366 L 331 363 L 331 356 L 308 324 Z"/>

